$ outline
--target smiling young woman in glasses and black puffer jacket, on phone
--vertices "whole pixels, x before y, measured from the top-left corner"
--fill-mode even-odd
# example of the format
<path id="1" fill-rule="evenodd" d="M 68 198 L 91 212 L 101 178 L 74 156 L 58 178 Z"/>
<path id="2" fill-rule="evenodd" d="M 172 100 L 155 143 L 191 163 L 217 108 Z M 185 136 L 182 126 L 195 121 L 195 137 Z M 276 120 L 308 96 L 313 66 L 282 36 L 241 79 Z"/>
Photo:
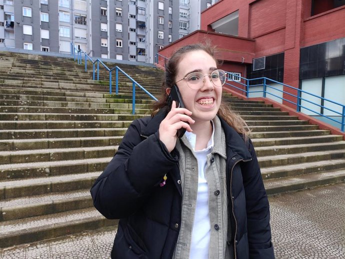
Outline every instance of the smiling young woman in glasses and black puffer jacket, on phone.
<path id="1" fill-rule="evenodd" d="M 217 65 L 207 45 L 178 49 L 152 116 L 133 121 L 92 186 L 94 206 L 120 219 L 111 258 L 274 258 L 255 151 L 221 104 Z M 185 108 L 166 101 L 174 84 Z"/>

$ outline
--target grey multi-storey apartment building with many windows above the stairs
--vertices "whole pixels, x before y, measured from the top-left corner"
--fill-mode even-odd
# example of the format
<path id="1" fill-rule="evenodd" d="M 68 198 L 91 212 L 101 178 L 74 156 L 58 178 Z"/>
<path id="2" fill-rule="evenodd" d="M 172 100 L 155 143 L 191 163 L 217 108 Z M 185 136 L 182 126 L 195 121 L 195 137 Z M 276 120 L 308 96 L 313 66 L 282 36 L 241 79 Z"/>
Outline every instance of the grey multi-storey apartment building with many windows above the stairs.
<path id="1" fill-rule="evenodd" d="M 214 0 L 0 0 L 0 47 L 153 62 Z"/>

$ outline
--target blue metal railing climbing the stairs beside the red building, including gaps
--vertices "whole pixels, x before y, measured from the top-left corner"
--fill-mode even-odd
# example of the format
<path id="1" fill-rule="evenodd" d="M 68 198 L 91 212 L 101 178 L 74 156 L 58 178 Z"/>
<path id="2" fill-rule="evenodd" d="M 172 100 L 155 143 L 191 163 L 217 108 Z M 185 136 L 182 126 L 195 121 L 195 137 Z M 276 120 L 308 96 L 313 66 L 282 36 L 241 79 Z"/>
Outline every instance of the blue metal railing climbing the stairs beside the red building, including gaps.
<path id="1" fill-rule="evenodd" d="M 270 98 L 270 99 L 272 99 L 272 97 L 273 98 L 275 97 L 277 99 L 281 99 L 281 100 L 284 100 L 284 101 L 287 101 L 291 104 L 296 105 L 296 111 L 298 111 L 298 112 L 301 111 L 301 108 L 308 110 L 308 111 L 311 111 L 312 113 L 315 113 L 315 114 L 320 115 L 322 117 L 325 117 L 325 118 L 327 118 L 327 119 L 329 119 L 335 123 L 340 124 L 340 130 L 341 131 L 344 132 L 344 130 L 345 130 L 345 105 L 344 104 L 338 103 L 336 101 L 333 101 L 333 100 L 330 100 L 330 99 L 327 99 L 327 98 L 324 98 L 321 96 L 318 96 L 316 94 L 313 94 L 313 93 L 308 92 L 308 91 L 304 91 L 302 89 L 295 88 L 295 87 L 290 86 L 288 84 L 269 79 L 267 77 L 247 79 L 245 77 L 241 77 L 241 76 L 238 76 L 236 74 L 232 74 L 231 72 L 226 72 L 226 73 L 228 75 L 233 75 L 237 78 L 240 78 L 240 80 L 234 81 L 234 80 L 228 79 L 227 82 L 225 82 L 225 84 L 241 91 L 242 94 L 248 98 L 250 98 L 249 95 L 252 93 L 262 93 L 262 97 L 266 97 L 266 98 Z M 227 76 L 227 77 L 229 77 L 229 76 Z M 231 83 L 229 83 L 228 81 L 231 81 Z M 297 94 L 287 92 L 286 90 L 283 90 L 283 87 L 282 87 L 282 89 L 278 89 L 276 87 L 273 87 L 272 85 L 270 85 L 272 83 L 285 86 L 285 87 L 291 89 L 292 92 L 293 91 L 297 92 Z M 262 90 L 250 90 L 250 88 L 253 88 L 255 86 L 262 86 Z M 271 91 L 269 91 L 272 89 L 274 91 L 277 91 L 278 93 L 280 92 L 281 96 L 280 96 L 280 94 L 279 95 L 274 94 Z M 288 95 L 288 96 L 293 97 L 295 99 L 295 101 L 293 101 L 291 99 L 284 98 L 284 95 L 285 96 Z M 269 96 L 271 96 L 271 97 L 269 97 Z M 303 97 L 303 96 L 305 96 L 305 97 Z M 310 98 L 318 99 L 321 104 L 310 100 Z M 302 104 L 303 102 L 305 104 Z M 335 105 L 336 107 L 338 107 L 338 110 L 341 110 L 341 111 L 334 110 L 334 109 L 331 109 L 331 108 L 325 106 L 324 102 L 329 102 L 332 105 Z M 317 111 L 315 109 L 310 108 L 310 105 L 307 106 L 307 104 L 311 104 L 312 106 L 315 105 L 315 106 L 319 107 L 320 111 Z M 336 116 L 339 116 L 341 118 L 340 121 L 332 118 L 329 115 L 324 114 L 323 110 L 325 110 L 325 109 L 330 111 L 331 113 L 336 114 Z"/>

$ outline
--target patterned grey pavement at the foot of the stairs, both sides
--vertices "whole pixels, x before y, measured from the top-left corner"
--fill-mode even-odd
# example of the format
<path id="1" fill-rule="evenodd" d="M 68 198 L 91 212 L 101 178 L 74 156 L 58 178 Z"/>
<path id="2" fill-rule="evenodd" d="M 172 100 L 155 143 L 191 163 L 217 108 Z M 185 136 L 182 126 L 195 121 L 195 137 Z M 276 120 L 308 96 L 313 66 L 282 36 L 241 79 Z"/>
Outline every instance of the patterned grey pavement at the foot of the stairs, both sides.
<path id="1" fill-rule="evenodd" d="M 345 183 L 269 197 L 276 259 L 345 259 Z M 0 250 L 0 258 L 109 258 L 115 231 Z"/>

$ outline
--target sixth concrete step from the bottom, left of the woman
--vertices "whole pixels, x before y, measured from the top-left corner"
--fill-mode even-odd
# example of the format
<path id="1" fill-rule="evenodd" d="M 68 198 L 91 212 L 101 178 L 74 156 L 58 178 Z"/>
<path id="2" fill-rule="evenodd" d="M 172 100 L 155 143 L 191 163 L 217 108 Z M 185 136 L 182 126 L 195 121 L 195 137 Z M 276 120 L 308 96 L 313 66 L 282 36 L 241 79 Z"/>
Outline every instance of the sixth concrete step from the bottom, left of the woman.
<path id="1" fill-rule="evenodd" d="M 0 151 L 31 150 L 39 148 L 71 148 L 118 145 L 119 136 L 61 137 L 37 139 L 5 139 L 0 141 Z"/>

